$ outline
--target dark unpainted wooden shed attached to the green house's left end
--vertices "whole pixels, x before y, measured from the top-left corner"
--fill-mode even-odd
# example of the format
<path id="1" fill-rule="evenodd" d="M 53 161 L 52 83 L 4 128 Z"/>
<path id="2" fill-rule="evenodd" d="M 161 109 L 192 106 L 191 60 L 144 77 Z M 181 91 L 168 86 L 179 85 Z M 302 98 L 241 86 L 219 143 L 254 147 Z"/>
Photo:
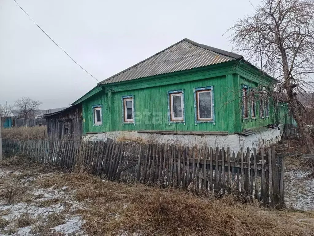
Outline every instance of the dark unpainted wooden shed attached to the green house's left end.
<path id="1" fill-rule="evenodd" d="M 49 139 L 80 140 L 83 132 L 82 105 L 45 114 Z"/>

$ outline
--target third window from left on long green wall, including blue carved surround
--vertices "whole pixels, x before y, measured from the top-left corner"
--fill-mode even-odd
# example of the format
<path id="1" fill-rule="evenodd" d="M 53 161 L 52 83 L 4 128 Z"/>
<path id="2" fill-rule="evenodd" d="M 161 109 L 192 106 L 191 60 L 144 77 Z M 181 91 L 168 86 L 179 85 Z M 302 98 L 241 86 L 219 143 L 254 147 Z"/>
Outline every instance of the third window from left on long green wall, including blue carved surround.
<path id="1" fill-rule="evenodd" d="M 169 122 L 184 122 L 183 90 L 168 91 Z"/>

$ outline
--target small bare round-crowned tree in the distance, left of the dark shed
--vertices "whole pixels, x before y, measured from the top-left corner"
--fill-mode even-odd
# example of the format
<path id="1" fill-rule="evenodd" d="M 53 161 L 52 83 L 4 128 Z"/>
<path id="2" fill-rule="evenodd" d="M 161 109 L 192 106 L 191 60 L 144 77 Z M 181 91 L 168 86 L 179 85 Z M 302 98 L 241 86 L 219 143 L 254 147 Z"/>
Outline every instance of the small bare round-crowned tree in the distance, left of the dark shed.
<path id="1" fill-rule="evenodd" d="M 39 110 L 41 102 L 31 99 L 29 97 L 22 97 L 15 101 L 14 105 L 19 109 L 20 116 L 24 117 L 24 122 L 29 116 L 34 116 L 35 112 Z"/>

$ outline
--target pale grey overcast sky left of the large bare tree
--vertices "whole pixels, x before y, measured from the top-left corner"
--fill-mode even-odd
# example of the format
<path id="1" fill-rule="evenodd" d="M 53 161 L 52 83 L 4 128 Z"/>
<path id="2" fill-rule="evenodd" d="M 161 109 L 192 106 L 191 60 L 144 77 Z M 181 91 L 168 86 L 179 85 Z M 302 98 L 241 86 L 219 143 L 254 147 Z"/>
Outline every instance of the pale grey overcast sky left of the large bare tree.
<path id="1" fill-rule="evenodd" d="M 99 81 L 183 38 L 231 50 L 223 33 L 258 0 L 16 0 Z M 251 2 L 251 3 L 250 3 Z M 42 109 L 68 106 L 97 81 L 14 3 L 0 0 L 0 103 L 27 96 Z"/>

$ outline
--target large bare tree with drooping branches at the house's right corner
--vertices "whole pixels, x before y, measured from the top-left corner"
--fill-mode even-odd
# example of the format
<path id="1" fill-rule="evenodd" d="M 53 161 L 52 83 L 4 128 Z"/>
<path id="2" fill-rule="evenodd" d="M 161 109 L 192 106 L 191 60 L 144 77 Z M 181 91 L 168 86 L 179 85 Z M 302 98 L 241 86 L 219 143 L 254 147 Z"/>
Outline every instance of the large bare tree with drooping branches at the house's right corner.
<path id="1" fill-rule="evenodd" d="M 307 151 L 314 144 L 306 132 L 305 108 L 297 93 L 311 90 L 314 72 L 314 0 L 263 0 L 252 16 L 229 29 L 233 48 L 279 82 L 275 90 L 285 94 Z"/>

